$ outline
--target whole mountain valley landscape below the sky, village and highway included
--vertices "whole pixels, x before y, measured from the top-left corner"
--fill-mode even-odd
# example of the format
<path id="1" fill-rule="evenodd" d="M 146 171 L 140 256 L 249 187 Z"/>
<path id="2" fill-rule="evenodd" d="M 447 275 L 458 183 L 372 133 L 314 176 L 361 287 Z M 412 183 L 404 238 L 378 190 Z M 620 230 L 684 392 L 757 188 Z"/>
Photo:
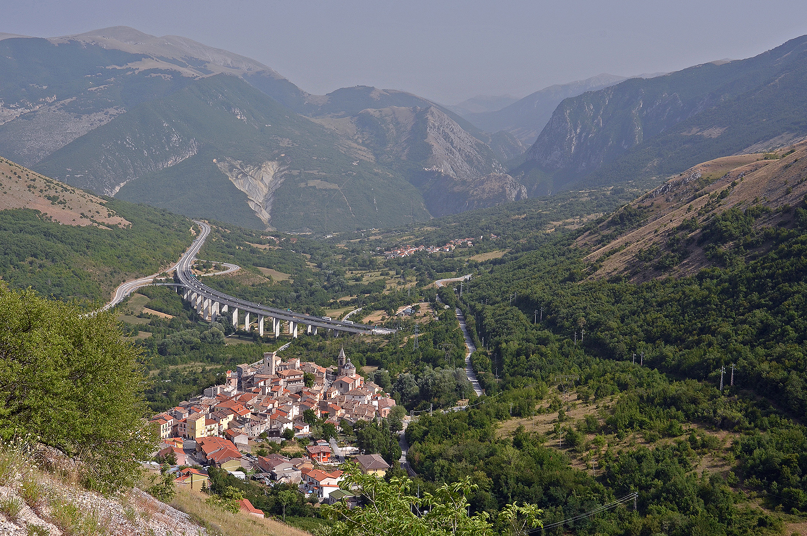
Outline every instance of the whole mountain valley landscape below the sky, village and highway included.
<path id="1" fill-rule="evenodd" d="M 443 106 L 0 34 L 0 527 L 807 534 L 805 46 Z"/>

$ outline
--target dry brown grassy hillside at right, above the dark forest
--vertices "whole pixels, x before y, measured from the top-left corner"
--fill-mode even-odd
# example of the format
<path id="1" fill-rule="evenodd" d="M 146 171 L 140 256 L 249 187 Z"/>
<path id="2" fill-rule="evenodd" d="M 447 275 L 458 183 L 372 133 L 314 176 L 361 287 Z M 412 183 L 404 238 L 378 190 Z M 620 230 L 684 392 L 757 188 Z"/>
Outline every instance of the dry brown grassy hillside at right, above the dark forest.
<path id="1" fill-rule="evenodd" d="M 688 276 L 769 250 L 800 218 L 807 194 L 807 142 L 776 153 L 709 160 L 669 178 L 577 240 L 592 277 Z M 796 211 L 797 212 L 797 211 Z"/>

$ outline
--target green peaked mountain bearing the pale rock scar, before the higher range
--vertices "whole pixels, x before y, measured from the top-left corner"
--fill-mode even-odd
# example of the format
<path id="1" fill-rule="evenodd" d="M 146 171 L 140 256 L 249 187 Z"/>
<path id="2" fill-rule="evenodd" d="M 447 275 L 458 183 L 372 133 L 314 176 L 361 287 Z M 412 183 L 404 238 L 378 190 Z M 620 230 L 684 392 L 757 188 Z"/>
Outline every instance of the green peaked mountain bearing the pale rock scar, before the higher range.
<path id="1" fill-rule="evenodd" d="M 418 190 L 400 174 L 379 176 L 365 153 L 220 74 L 135 106 L 37 167 L 128 201 L 243 226 L 394 225 L 412 217 L 412 199 L 416 219 L 428 218 Z"/>

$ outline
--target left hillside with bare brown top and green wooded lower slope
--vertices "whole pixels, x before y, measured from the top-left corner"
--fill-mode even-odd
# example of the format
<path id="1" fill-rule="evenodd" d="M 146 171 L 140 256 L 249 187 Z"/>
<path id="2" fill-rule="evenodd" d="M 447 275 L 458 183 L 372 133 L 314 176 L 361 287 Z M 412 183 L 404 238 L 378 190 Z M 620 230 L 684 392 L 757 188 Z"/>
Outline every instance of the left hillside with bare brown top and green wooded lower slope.
<path id="1" fill-rule="evenodd" d="M 11 289 L 108 301 L 123 281 L 174 263 L 193 239 L 182 216 L 96 197 L 8 160 L 0 170 L 0 277 Z"/>

